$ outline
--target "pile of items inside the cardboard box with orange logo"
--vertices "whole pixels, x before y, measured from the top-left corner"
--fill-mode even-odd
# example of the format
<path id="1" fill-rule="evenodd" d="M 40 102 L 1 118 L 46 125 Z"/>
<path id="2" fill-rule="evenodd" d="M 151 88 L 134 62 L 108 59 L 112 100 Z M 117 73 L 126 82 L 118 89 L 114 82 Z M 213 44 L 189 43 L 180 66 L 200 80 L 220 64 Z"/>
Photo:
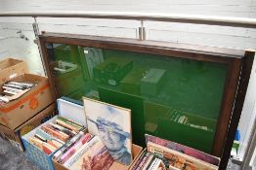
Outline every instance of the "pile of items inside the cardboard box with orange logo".
<path id="1" fill-rule="evenodd" d="M 34 84 L 32 83 L 7 82 L 2 86 L 3 91 L 0 94 L 0 102 L 8 103 L 11 100 L 17 99 L 33 86 Z"/>

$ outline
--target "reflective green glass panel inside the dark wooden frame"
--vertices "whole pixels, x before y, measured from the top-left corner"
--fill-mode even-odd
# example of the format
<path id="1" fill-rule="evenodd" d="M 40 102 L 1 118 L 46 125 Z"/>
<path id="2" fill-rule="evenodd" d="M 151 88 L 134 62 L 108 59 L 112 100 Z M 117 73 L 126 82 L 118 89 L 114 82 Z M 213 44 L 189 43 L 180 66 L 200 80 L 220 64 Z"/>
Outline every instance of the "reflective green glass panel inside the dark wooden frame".
<path id="1" fill-rule="evenodd" d="M 132 110 L 133 142 L 149 133 L 211 153 L 227 65 L 130 51 L 47 44 L 60 96 Z"/>

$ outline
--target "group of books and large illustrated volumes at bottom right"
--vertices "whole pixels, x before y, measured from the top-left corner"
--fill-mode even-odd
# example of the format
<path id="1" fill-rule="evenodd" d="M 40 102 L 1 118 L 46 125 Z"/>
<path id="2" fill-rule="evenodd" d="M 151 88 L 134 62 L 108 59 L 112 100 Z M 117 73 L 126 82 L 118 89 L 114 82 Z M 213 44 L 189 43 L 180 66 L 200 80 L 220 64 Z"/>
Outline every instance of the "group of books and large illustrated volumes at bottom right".
<path id="1" fill-rule="evenodd" d="M 146 135 L 147 150 L 131 170 L 218 170 L 220 159 L 192 148 Z"/>

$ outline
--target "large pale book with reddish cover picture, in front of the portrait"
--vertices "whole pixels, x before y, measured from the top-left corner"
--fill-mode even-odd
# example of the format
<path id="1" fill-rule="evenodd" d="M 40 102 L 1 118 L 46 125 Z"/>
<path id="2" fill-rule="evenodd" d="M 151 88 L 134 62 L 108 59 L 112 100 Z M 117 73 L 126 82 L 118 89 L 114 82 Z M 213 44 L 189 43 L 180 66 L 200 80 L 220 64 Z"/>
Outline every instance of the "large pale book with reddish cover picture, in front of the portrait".
<path id="1" fill-rule="evenodd" d="M 100 137 L 95 136 L 67 159 L 64 167 L 72 170 L 107 170 L 113 161 Z"/>

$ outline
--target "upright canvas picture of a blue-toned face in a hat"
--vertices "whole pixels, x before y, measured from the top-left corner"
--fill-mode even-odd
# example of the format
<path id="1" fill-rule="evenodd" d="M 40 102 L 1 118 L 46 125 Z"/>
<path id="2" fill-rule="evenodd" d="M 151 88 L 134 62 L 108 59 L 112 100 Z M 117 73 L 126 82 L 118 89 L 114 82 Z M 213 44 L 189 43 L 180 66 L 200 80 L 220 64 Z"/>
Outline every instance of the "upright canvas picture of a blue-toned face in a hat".
<path id="1" fill-rule="evenodd" d="M 131 110 L 83 98 L 89 133 L 100 136 L 114 160 L 132 162 Z"/>

